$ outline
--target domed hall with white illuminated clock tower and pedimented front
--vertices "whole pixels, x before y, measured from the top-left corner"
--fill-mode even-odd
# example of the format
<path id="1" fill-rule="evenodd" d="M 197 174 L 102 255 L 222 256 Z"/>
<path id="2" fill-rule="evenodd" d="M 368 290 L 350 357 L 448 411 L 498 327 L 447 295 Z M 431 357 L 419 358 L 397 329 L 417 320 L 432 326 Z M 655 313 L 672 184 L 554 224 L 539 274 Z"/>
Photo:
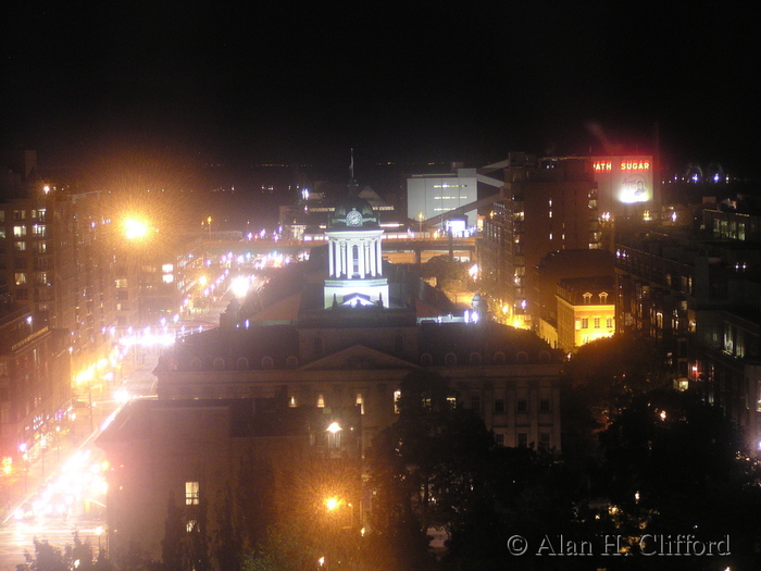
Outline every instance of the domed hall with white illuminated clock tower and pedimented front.
<path id="1" fill-rule="evenodd" d="M 559 352 L 528 331 L 453 320 L 440 291 L 383 262 L 384 231 L 355 194 L 336 206 L 325 234 L 327 245 L 283 269 L 255 303 L 178 339 L 154 370 L 158 398 L 130 404 L 100 437 L 122 467 L 109 485 L 114 554 L 132 545 L 161 554 L 172 497 L 185 499 L 188 525 L 198 498 L 226 509 L 229 491 L 242 491 L 237 511 L 267 497 L 286 518 L 315 456 L 351 468 L 347 504 L 361 527 L 373 509 L 364 454 L 398 418 L 400 384 L 414 373 L 438 374 L 497 445 L 560 448 Z M 486 316 L 482 299 L 473 309 Z M 257 470 L 272 489 L 245 488 Z M 251 521 L 263 517 L 249 507 Z"/>

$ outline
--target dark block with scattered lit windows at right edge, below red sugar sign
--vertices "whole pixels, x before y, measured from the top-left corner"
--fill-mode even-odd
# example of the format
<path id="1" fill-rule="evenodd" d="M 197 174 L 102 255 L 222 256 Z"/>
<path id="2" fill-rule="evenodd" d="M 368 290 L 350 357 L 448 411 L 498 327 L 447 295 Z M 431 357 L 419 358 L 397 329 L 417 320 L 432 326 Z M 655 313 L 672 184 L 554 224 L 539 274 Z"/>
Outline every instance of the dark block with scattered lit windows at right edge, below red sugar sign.
<path id="1" fill-rule="evenodd" d="M 675 386 L 724 408 L 759 449 L 761 249 L 751 237 L 758 216 L 707 211 L 704 221 L 703 233 L 616 228 L 616 326 L 658 339 Z M 732 221 L 746 229 L 723 234 Z"/>

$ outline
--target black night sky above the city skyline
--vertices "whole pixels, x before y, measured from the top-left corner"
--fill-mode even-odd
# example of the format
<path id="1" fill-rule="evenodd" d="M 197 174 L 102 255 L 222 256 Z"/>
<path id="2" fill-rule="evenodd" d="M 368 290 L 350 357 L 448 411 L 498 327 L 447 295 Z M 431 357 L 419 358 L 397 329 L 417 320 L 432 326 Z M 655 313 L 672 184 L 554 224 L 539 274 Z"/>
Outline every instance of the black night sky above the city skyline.
<path id="1" fill-rule="evenodd" d="M 650 151 L 657 122 L 670 165 L 754 174 L 752 18 L 660 3 L 25 2 L 3 15 L 3 145 L 50 166 L 130 146 L 477 165 Z"/>

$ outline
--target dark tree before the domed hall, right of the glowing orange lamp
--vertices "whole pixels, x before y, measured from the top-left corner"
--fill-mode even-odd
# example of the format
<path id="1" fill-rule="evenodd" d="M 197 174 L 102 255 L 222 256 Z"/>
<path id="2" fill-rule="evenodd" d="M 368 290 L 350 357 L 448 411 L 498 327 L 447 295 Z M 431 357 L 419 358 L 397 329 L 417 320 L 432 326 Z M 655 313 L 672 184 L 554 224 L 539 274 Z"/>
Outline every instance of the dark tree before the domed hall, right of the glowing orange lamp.
<path id="1" fill-rule="evenodd" d="M 399 418 L 369 452 L 373 527 L 404 564 L 422 566 L 426 530 L 459 533 L 479 516 L 494 437 L 438 374 L 412 373 L 400 389 Z"/>

